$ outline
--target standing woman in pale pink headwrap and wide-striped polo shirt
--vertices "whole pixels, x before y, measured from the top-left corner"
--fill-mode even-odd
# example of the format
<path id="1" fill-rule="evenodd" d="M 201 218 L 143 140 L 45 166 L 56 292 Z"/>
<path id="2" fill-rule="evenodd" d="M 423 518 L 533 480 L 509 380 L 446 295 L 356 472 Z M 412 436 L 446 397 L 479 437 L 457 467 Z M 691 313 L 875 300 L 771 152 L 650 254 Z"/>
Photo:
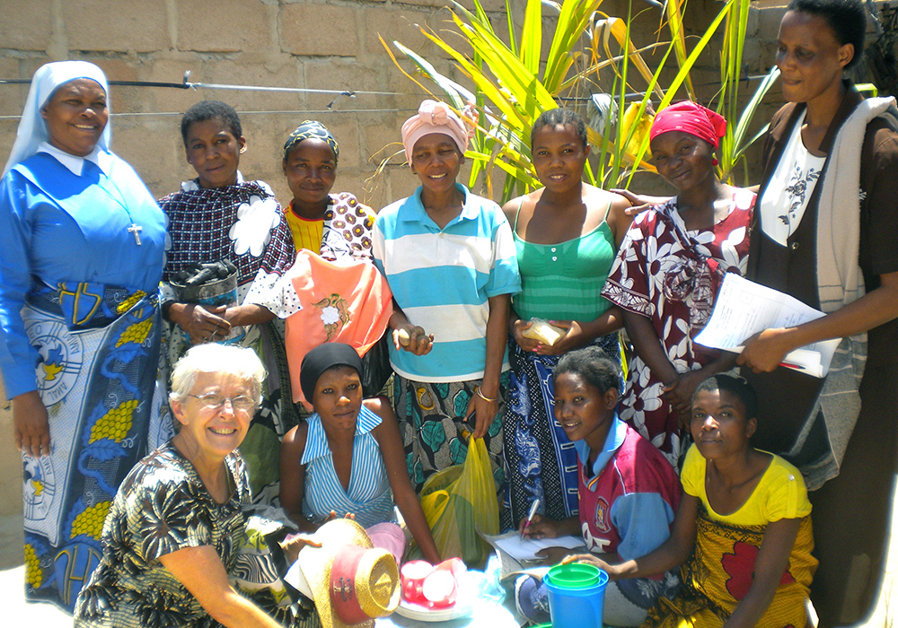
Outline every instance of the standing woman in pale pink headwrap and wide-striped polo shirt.
<path id="1" fill-rule="evenodd" d="M 420 491 L 462 462 L 471 432 L 501 488 L 508 303 L 521 290 L 511 228 L 498 205 L 455 181 L 468 132 L 452 109 L 422 102 L 402 144 L 421 186 L 377 214 L 374 264 L 395 301 L 393 401 L 409 475 Z"/>

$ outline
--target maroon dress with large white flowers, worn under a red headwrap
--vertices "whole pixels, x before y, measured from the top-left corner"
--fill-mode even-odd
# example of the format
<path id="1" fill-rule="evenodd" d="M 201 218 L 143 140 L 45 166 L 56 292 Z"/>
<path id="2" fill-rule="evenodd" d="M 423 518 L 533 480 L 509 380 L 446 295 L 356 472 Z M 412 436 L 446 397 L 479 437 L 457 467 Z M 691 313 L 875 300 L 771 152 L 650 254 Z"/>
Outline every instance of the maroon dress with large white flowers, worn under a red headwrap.
<path id="1" fill-rule="evenodd" d="M 674 196 L 639 214 L 621 242 L 602 296 L 648 318 L 679 373 L 699 369 L 715 355 L 692 339 L 710 318 L 723 274 L 744 275 L 754 201 L 752 192 L 740 189 L 725 218 L 710 229 L 687 231 Z M 618 409 L 621 419 L 679 467 L 680 428 L 663 388 L 636 355 Z"/>

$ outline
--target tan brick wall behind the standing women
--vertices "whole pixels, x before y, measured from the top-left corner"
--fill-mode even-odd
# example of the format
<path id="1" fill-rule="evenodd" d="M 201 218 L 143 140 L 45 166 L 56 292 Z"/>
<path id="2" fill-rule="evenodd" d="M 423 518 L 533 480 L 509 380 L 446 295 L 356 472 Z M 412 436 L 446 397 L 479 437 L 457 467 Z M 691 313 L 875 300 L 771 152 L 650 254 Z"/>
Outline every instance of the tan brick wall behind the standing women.
<path id="1" fill-rule="evenodd" d="M 248 151 L 241 170 L 268 181 L 282 201 L 290 196 L 280 171 L 280 146 L 305 118 L 320 119 L 340 144 L 336 190 L 348 190 L 379 208 L 407 196 L 417 179 L 401 159 L 374 184 L 382 149 L 399 142 L 402 121 L 417 109 L 418 87 L 392 64 L 381 45 L 398 39 L 425 55 L 441 71 L 463 82 L 414 24 L 445 28 L 445 0 L 4 0 L 0 19 L 0 78 L 31 78 L 48 61 L 77 58 L 100 65 L 110 80 L 181 83 L 185 71 L 201 83 L 237 83 L 327 90 L 399 92 L 334 100 L 330 94 L 184 91 L 111 88 L 112 147 L 131 162 L 156 196 L 193 176 L 184 161 L 180 114 L 198 100 L 218 99 L 242 112 Z M 472 3 L 463 0 L 462 4 Z M 506 32 L 504 0 L 483 0 L 497 31 Z M 522 2 L 512 2 L 520 13 Z M 626 0 L 606 0 L 602 9 L 626 15 Z M 636 10 L 644 5 L 634 0 Z M 691 29 L 700 32 L 719 11 L 715 0 L 693 0 Z M 636 39 L 648 42 L 657 18 L 643 14 Z M 781 11 L 781 10 L 780 10 Z M 521 15 L 515 15 L 521 22 Z M 553 20 L 545 18 L 547 37 Z M 770 64 L 779 14 L 753 23 L 746 48 L 749 72 Z M 774 25 L 771 31 L 770 24 Z M 772 34 L 771 34 L 772 32 Z M 548 51 L 548 48 L 544 48 Z M 408 62 L 403 66 L 410 69 Z M 716 80 L 713 62 L 706 73 Z M 27 85 L 0 85 L 0 156 L 13 144 Z M 307 113 L 308 112 L 308 113 Z M 388 153 L 399 148 L 394 144 Z M 19 458 L 11 446 L 12 418 L 0 388 L 0 515 L 20 511 Z"/>

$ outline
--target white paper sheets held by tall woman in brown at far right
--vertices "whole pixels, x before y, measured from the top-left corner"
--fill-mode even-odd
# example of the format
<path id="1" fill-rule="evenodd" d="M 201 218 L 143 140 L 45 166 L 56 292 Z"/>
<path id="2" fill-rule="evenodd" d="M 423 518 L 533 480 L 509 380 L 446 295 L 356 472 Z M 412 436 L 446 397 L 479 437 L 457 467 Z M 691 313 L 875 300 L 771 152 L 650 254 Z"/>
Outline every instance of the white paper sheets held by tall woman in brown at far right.
<path id="1" fill-rule="evenodd" d="M 795 297 L 727 273 L 708 325 L 695 337 L 700 345 L 741 353 L 745 340 L 770 327 L 795 327 L 823 317 Z M 822 378 L 841 338 L 824 340 L 789 353 L 783 366 Z"/>

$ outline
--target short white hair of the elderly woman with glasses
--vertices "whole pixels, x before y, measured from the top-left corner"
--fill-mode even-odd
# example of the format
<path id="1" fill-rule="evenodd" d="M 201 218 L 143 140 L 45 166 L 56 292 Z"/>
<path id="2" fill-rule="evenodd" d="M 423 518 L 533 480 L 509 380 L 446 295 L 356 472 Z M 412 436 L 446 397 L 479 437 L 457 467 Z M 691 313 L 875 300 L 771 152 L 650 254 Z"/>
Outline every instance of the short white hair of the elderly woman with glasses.
<path id="1" fill-rule="evenodd" d="M 221 373 L 252 381 L 252 398 L 258 406 L 262 400 L 265 367 L 252 349 L 207 343 L 196 345 L 174 365 L 169 400 L 183 401 L 197 381 L 197 373 Z"/>

